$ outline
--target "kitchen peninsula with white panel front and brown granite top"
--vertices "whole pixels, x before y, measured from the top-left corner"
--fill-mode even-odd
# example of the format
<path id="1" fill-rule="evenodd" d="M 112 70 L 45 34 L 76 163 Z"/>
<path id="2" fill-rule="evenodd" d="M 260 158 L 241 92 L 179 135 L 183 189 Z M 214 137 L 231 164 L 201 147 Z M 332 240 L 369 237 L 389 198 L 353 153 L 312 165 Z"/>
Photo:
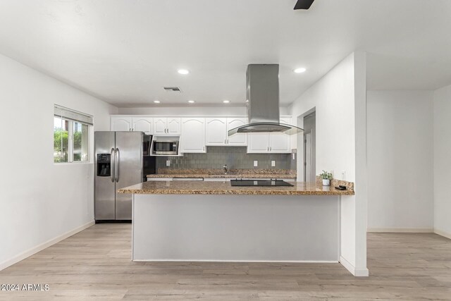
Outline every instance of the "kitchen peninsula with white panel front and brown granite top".
<path id="1" fill-rule="evenodd" d="M 340 198 L 319 183 L 149 181 L 133 195 L 133 261 L 338 262 Z"/>

